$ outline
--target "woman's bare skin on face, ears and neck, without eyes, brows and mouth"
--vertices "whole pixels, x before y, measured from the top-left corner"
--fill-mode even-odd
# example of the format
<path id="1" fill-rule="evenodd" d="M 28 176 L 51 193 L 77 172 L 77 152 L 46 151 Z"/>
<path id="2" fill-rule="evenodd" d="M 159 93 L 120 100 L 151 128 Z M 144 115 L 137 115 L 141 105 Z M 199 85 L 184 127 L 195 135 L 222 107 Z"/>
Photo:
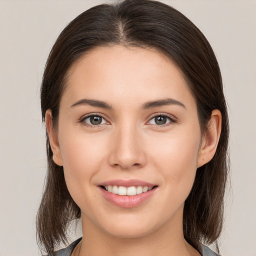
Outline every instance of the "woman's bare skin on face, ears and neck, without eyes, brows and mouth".
<path id="1" fill-rule="evenodd" d="M 180 70 L 153 49 L 97 47 L 70 68 L 61 97 L 58 128 L 45 115 L 56 164 L 81 209 L 83 238 L 72 255 L 200 255 L 183 238 L 182 214 L 196 168 L 215 153 L 221 114 L 213 110 L 201 134 L 196 103 Z M 78 104 L 102 100 L 105 109 Z M 151 100 L 181 102 L 141 109 Z M 88 114 L 104 117 L 91 125 Z M 154 116 L 168 115 L 159 125 Z M 86 126 L 90 124 L 90 126 Z M 108 202 L 98 185 L 111 179 L 157 184 L 142 204 Z"/>

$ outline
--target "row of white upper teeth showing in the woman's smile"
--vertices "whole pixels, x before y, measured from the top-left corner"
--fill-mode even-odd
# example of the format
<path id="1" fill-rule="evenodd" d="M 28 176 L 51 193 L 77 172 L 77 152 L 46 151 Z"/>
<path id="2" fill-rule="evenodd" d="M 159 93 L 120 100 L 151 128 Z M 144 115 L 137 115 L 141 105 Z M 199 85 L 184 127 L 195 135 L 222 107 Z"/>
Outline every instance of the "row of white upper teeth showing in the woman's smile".
<path id="1" fill-rule="evenodd" d="M 141 194 L 144 192 L 147 192 L 151 190 L 153 187 L 152 186 L 116 186 L 116 185 L 107 185 L 104 186 L 104 188 L 114 194 L 119 194 L 119 195 L 135 195 L 135 194 Z"/>

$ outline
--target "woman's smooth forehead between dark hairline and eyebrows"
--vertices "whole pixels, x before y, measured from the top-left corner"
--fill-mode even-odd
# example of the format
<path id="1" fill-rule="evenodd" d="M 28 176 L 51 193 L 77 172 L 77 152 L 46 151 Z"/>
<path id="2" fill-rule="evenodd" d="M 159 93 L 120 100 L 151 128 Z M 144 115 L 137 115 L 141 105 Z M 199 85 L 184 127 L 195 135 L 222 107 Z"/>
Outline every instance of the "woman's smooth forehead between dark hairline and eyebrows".
<path id="1" fill-rule="evenodd" d="M 96 47 L 73 63 L 63 100 L 71 103 L 81 97 L 123 102 L 152 97 L 193 100 L 182 72 L 168 57 L 155 49 L 122 45 Z"/>

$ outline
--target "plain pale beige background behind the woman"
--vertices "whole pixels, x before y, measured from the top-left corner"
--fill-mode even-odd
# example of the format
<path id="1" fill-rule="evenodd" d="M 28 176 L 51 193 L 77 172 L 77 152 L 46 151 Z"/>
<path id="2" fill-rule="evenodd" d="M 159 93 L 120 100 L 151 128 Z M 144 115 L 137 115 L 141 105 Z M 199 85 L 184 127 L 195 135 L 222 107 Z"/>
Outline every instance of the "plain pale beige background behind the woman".
<path id="1" fill-rule="evenodd" d="M 39 255 L 34 220 L 46 169 L 43 67 L 63 27 L 101 2 L 0 0 L 0 256 Z M 255 256 L 256 1 L 164 2 L 202 30 L 218 58 L 229 106 L 232 184 L 220 249 L 222 256 Z"/>

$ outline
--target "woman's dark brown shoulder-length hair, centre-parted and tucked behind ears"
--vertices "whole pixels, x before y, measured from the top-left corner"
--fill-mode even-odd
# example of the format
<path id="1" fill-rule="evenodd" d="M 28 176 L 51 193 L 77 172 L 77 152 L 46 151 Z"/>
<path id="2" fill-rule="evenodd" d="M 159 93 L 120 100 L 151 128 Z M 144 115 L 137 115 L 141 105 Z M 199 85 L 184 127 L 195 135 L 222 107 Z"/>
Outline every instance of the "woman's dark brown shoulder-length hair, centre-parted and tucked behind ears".
<path id="1" fill-rule="evenodd" d="M 202 132 L 213 109 L 222 115 L 222 127 L 213 158 L 196 172 L 191 192 L 184 204 L 185 239 L 198 247 L 200 242 L 216 242 L 223 218 L 223 196 L 228 172 L 228 118 L 216 57 L 200 30 L 176 9 L 152 0 L 124 0 L 94 6 L 73 19 L 53 45 L 41 84 L 41 111 L 51 109 L 57 128 L 59 102 L 70 66 L 96 46 L 121 44 L 150 47 L 169 57 L 183 73 L 193 94 Z M 37 242 L 52 253 L 66 242 L 71 220 L 80 209 L 71 198 L 63 167 L 52 160 L 46 133 L 48 169 L 37 213 Z"/>

